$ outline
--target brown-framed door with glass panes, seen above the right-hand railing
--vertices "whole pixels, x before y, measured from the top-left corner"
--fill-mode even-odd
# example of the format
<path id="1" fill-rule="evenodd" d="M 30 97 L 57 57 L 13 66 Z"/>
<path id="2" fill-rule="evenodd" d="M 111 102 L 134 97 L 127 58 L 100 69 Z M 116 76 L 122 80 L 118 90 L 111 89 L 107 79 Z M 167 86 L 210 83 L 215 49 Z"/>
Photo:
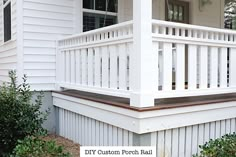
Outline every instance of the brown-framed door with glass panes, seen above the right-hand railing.
<path id="1" fill-rule="evenodd" d="M 189 2 L 169 0 L 166 4 L 166 20 L 189 23 Z"/>

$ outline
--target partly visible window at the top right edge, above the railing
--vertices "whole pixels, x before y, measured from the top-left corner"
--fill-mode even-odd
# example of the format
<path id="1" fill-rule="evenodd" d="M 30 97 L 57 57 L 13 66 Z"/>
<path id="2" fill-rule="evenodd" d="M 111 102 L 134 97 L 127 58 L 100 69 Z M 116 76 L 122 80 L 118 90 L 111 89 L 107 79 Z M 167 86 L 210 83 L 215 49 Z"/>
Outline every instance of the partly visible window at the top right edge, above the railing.
<path id="1" fill-rule="evenodd" d="M 236 0 L 225 0 L 225 28 L 236 30 Z"/>

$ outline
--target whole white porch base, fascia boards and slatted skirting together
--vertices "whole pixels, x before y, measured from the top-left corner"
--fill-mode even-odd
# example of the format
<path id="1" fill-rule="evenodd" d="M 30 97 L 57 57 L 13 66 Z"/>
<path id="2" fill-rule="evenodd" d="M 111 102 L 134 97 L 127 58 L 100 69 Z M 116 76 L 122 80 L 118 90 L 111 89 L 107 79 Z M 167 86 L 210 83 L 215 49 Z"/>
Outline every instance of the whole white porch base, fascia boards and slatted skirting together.
<path id="1" fill-rule="evenodd" d="M 57 133 L 84 146 L 156 146 L 157 157 L 191 157 L 236 132 L 235 101 L 139 113 L 53 93 L 53 104 Z"/>

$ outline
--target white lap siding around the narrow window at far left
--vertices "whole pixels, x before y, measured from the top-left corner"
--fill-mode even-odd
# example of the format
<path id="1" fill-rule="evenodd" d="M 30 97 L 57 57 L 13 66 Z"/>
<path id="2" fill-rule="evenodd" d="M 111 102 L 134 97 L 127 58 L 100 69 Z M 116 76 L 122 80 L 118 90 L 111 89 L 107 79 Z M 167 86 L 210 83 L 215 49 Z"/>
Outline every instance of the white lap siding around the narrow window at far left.
<path id="1" fill-rule="evenodd" d="M 9 70 L 17 67 L 16 53 L 16 35 L 17 35 L 17 17 L 16 17 L 16 0 L 11 0 L 11 23 L 12 39 L 4 43 L 3 34 L 3 1 L 0 1 L 0 84 L 9 81 Z"/>

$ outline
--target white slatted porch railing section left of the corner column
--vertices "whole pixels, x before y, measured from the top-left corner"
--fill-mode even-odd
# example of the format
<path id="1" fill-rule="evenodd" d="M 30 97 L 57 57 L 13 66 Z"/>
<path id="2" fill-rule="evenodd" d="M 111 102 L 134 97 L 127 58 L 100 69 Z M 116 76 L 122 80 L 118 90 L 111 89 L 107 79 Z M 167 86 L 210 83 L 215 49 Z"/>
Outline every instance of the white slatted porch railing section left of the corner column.
<path id="1" fill-rule="evenodd" d="M 59 40 L 59 87 L 129 97 L 132 21 Z"/>

